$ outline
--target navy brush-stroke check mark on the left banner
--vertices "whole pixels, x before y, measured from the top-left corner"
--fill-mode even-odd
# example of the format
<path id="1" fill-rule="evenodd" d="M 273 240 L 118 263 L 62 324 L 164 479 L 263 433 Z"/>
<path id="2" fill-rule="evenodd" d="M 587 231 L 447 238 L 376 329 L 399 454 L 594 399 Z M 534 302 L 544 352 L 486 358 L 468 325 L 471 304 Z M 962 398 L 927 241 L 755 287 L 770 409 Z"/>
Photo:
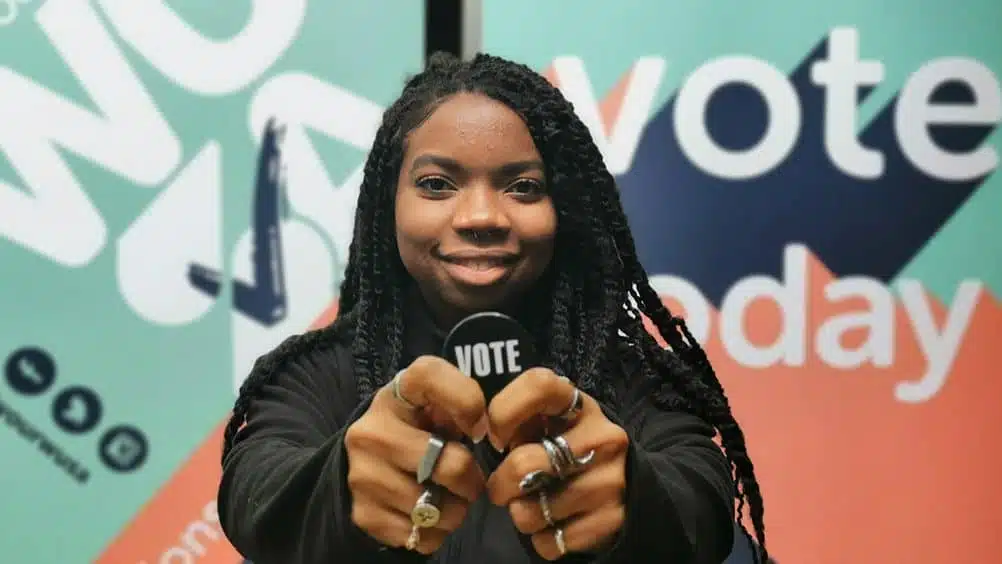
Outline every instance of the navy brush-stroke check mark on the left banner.
<path id="1" fill-rule="evenodd" d="M 270 119 L 258 157 L 255 188 L 254 236 L 250 284 L 233 280 L 233 309 L 258 323 L 271 327 L 288 315 L 285 260 L 282 254 L 281 216 L 285 198 L 282 183 L 282 131 Z M 201 264 L 188 266 L 188 281 L 195 289 L 215 298 L 221 290 L 222 274 Z"/>

